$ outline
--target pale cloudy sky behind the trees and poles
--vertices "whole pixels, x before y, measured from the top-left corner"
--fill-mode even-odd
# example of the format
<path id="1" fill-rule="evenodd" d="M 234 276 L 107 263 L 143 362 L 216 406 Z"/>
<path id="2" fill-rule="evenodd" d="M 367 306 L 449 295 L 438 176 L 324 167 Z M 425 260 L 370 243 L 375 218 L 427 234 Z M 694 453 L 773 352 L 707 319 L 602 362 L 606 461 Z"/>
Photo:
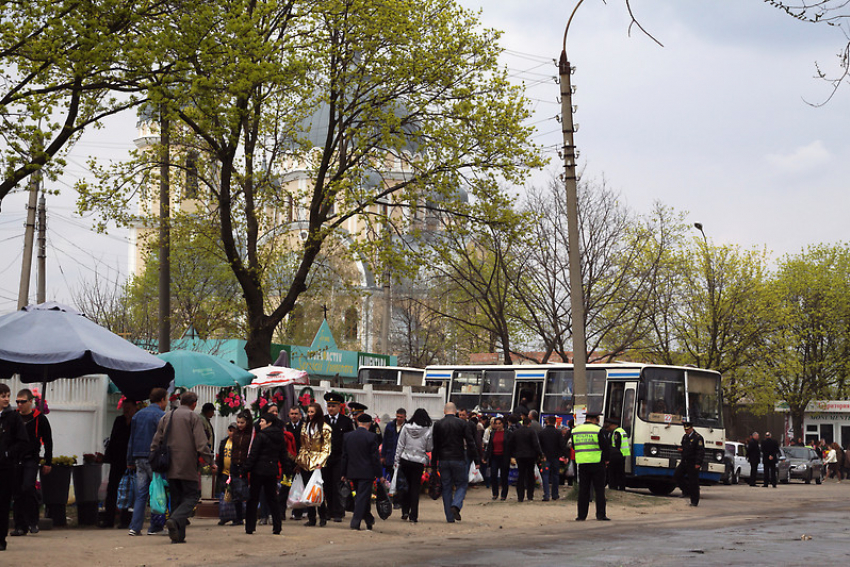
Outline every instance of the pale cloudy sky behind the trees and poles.
<path id="1" fill-rule="evenodd" d="M 574 2 L 459 0 L 503 32 L 503 62 L 524 84 L 534 140 L 552 158 L 531 183 L 560 171 L 555 60 Z M 832 89 L 815 63 L 837 72 L 841 31 L 799 22 L 761 0 L 632 0 L 660 47 L 633 28 L 625 0 L 585 0 L 567 45 L 585 180 L 602 180 L 633 210 L 655 202 L 687 212 L 716 244 L 767 248 L 773 258 L 847 241 L 850 84 Z M 135 116 L 87 133 L 48 197 L 47 296 L 64 303 L 94 278 L 127 278 L 125 231 L 97 235 L 74 214 L 73 184 L 89 156 L 133 148 Z M 841 165 L 844 164 L 844 165 Z M 0 313 L 16 308 L 26 195 L 0 211 Z M 696 236 L 696 235 L 695 235 Z M 35 298 L 33 274 L 31 297 Z"/>

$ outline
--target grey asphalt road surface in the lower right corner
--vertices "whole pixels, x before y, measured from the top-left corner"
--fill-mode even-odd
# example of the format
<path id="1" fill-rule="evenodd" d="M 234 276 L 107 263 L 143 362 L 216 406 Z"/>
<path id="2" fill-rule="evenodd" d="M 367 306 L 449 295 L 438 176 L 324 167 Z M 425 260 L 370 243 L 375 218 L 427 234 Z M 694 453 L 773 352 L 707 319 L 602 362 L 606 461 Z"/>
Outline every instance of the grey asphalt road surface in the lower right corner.
<path id="1" fill-rule="evenodd" d="M 696 509 L 675 506 L 638 519 L 588 521 L 566 526 L 561 537 L 520 546 L 494 542 L 463 557 L 419 564 L 840 565 L 850 558 L 848 497 L 850 481 L 710 487 Z"/>

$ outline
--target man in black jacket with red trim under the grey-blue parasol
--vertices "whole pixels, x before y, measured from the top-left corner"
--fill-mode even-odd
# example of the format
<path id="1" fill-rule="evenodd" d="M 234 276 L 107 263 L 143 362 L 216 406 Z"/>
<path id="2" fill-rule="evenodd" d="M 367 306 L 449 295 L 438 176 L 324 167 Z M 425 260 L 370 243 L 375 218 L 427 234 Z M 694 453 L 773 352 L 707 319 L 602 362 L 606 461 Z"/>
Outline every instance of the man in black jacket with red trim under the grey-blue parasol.
<path id="1" fill-rule="evenodd" d="M 38 533 L 38 494 L 35 490 L 41 447 L 44 446 L 44 466 L 41 474 L 50 474 L 53 460 L 53 433 L 47 416 L 35 407 L 32 390 L 18 392 L 18 413 L 27 428 L 29 447 L 17 469 L 15 482 L 15 530 L 13 536 Z"/>

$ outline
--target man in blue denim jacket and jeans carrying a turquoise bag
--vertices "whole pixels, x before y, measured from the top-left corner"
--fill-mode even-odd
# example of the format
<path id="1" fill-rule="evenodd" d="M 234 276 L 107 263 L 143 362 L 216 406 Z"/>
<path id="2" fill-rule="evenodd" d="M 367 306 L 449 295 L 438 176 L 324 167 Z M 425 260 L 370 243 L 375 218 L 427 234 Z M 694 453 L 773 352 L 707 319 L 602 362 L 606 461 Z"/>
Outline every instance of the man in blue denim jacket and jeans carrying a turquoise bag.
<path id="1" fill-rule="evenodd" d="M 145 523 L 145 506 L 148 503 L 153 471 L 148 462 L 151 452 L 151 441 L 156 434 L 159 420 L 165 415 L 168 405 L 168 392 L 165 388 L 151 390 L 151 405 L 138 411 L 130 422 L 130 440 L 127 442 L 127 468 L 136 471 L 136 498 L 133 502 L 133 517 L 130 519 L 131 536 L 142 534 Z M 162 523 L 155 523 L 151 518 L 148 535 L 162 531 Z"/>

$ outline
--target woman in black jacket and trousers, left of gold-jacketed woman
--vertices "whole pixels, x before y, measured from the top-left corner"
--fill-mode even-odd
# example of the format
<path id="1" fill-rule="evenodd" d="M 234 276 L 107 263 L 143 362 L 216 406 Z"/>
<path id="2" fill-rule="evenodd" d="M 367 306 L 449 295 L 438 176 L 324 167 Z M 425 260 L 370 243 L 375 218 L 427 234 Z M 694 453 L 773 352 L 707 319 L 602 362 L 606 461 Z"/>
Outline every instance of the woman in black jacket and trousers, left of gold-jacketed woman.
<path id="1" fill-rule="evenodd" d="M 284 471 L 291 471 L 293 463 L 286 450 L 283 430 L 278 425 L 277 418 L 270 413 L 265 413 L 260 418 L 260 432 L 254 438 L 245 466 L 251 473 L 251 495 L 245 512 L 245 533 L 252 534 L 257 527 L 257 505 L 260 502 L 262 490 L 266 495 L 266 505 L 272 516 L 272 533 L 280 535 L 281 515 L 280 504 L 277 500 L 277 477 L 281 467 Z"/>

